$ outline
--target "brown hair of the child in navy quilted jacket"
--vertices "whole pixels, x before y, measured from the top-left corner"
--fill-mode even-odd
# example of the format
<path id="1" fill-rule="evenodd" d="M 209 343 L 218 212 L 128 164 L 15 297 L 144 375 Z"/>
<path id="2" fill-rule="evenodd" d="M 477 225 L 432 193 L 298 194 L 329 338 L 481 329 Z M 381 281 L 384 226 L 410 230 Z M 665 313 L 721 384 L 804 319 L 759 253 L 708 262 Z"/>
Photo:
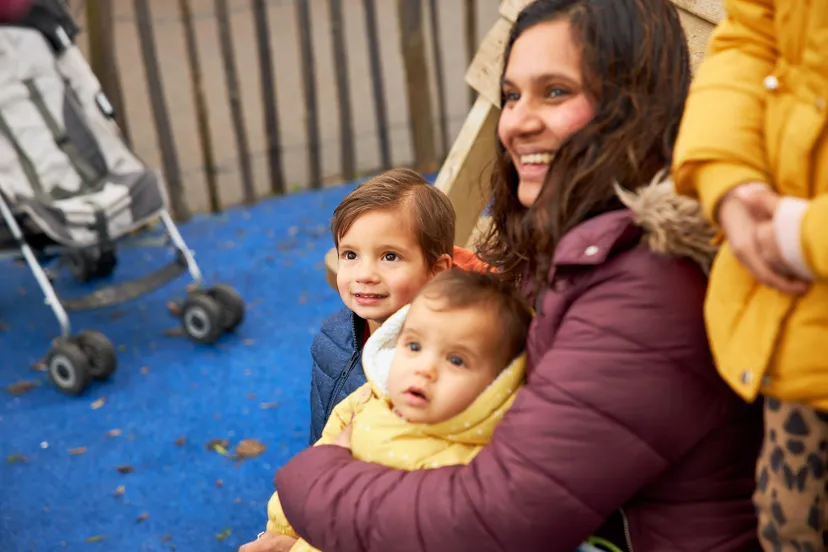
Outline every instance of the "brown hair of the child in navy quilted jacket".
<path id="1" fill-rule="evenodd" d="M 345 196 L 334 210 L 331 232 L 339 249 L 354 222 L 371 211 L 409 208 L 414 233 L 429 266 L 454 251 L 456 215 L 446 195 L 411 169 L 392 169 L 377 175 Z"/>

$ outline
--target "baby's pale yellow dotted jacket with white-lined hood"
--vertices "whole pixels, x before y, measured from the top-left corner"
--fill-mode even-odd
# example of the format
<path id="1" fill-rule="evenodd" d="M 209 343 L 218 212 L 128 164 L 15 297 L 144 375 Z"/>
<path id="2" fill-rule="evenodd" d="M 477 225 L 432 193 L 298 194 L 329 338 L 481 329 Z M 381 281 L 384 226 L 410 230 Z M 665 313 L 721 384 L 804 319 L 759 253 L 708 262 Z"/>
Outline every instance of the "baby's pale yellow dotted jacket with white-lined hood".
<path id="1" fill-rule="evenodd" d="M 358 460 L 403 470 L 468 464 L 489 442 L 495 426 L 515 400 L 525 376 L 525 356 L 515 359 L 457 416 L 432 425 L 405 422 L 391 410 L 386 383 L 407 313 L 408 307 L 403 307 L 368 338 L 362 353 L 368 383 L 334 408 L 322 438 L 314 446 L 332 443 L 352 423 L 351 452 Z M 297 536 L 285 518 L 278 493 L 267 505 L 267 516 L 268 531 Z M 312 550 L 302 539 L 291 548 L 291 552 Z"/>

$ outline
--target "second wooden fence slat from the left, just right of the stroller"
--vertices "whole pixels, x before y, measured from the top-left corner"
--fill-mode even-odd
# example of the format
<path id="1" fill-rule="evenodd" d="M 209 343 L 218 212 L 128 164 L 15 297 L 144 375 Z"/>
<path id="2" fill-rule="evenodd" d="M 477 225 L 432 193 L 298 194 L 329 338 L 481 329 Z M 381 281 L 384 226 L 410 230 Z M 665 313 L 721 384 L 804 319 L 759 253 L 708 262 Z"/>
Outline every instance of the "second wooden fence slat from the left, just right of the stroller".
<path id="1" fill-rule="evenodd" d="M 158 67 L 158 53 L 155 47 L 155 37 L 152 32 L 152 15 L 148 0 L 133 0 L 135 10 L 135 24 L 141 42 L 141 59 L 147 77 L 147 92 L 152 106 L 152 116 L 155 122 L 155 132 L 158 146 L 161 149 L 161 164 L 164 178 L 167 181 L 167 190 L 170 196 L 170 207 L 173 217 L 185 221 L 190 218 L 190 209 L 184 195 L 184 186 L 181 182 L 181 169 L 178 166 L 178 154 L 173 140 L 170 115 L 167 102 L 164 98 L 164 87 L 161 71 Z"/>

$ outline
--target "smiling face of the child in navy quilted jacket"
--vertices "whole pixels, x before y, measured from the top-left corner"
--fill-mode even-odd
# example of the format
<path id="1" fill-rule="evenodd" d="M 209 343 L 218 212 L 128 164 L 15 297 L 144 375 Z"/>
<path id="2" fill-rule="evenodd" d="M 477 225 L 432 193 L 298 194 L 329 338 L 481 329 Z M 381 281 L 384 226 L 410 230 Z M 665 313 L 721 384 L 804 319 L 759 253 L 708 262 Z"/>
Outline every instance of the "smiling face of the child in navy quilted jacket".
<path id="1" fill-rule="evenodd" d="M 369 211 L 339 240 L 339 295 L 372 331 L 434 274 L 412 228 L 404 210 Z"/>

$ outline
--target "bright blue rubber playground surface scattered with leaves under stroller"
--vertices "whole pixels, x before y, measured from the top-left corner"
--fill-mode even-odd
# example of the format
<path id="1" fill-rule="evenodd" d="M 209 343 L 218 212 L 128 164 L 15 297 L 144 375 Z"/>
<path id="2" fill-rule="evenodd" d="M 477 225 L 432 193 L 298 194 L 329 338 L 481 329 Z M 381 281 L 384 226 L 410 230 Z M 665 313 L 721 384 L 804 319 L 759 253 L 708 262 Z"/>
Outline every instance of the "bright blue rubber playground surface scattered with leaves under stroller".
<path id="1" fill-rule="evenodd" d="M 117 307 L 73 313 L 73 329 L 103 331 L 120 363 L 80 397 L 36 369 L 57 321 L 29 269 L 0 262 L 1 552 L 228 551 L 264 529 L 274 473 L 307 445 L 309 347 L 341 304 L 325 282 L 327 224 L 352 188 L 180 226 L 206 283 L 244 297 L 244 324 L 214 346 L 175 335 L 167 304 L 185 296 L 187 276 Z M 167 255 L 121 250 L 113 279 Z M 66 271 L 56 287 L 67 297 L 89 290 Z M 20 382 L 36 386 L 9 391 Z M 208 447 L 225 440 L 233 453 L 244 439 L 264 452 L 237 462 Z"/>

